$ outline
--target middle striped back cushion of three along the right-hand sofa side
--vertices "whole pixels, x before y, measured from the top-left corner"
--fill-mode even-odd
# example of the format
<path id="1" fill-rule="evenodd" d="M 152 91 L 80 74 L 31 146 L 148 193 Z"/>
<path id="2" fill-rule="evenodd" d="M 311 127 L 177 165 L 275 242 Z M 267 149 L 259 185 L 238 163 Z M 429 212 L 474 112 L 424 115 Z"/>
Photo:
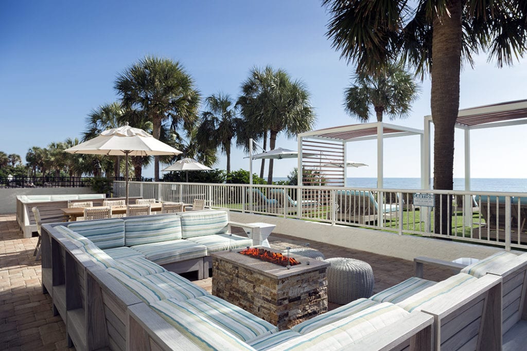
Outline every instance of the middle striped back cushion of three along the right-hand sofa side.
<path id="1" fill-rule="evenodd" d="M 397 303 L 397 306 L 406 309 L 408 312 L 430 308 L 436 303 L 444 302 L 445 299 L 448 299 L 448 295 L 463 296 L 463 289 L 470 289 L 470 283 L 476 279 L 469 274 L 456 274 L 404 299 Z"/>

